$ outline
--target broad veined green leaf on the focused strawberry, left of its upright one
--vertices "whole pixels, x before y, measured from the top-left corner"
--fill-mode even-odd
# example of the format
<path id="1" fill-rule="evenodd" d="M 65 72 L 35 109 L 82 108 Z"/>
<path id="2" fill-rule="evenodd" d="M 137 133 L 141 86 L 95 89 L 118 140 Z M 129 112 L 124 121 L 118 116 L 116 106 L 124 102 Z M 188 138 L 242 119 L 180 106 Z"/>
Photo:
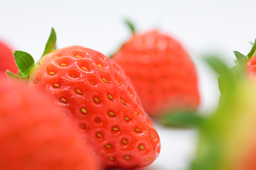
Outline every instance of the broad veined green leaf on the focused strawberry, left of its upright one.
<path id="1" fill-rule="evenodd" d="M 14 59 L 20 70 L 19 76 L 28 78 L 30 70 L 35 64 L 33 57 L 24 51 L 14 51 Z"/>

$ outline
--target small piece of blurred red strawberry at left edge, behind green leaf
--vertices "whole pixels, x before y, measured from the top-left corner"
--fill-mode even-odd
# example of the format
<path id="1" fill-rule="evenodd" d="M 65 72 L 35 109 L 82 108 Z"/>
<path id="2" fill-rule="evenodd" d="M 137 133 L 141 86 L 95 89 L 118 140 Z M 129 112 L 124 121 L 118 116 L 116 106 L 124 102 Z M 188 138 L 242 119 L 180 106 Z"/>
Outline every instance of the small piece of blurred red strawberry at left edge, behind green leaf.
<path id="1" fill-rule="evenodd" d="M 18 67 L 13 58 L 12 50 L 3 41 L 0 41 L 0 76 L 6 77 L 6 70 L 18 73 Z"/>

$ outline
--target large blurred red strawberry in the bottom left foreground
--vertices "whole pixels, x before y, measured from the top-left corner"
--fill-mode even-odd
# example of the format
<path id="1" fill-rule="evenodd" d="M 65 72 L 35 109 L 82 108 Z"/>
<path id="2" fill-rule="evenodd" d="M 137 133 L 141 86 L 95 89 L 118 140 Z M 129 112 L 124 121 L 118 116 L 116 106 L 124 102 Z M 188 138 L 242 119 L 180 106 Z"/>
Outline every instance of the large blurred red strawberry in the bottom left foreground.
<path id="1" fill-rule="evenodd" d="M 0 102 L 1 169 L 99 169 L 49 98 L 0 78 Z"/>

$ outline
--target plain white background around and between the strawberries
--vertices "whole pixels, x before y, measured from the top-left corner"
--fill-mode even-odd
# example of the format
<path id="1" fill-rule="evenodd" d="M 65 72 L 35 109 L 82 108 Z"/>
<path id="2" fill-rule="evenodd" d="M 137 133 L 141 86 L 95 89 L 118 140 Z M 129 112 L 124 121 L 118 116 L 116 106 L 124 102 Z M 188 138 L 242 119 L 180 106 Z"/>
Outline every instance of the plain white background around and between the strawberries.
<path id="1" fill-rule="evenodd" d="M 175 37 L 195 62 L 202 97 L 201 113 L 209 113 L 218 101 L 215 75 L 202 54 L 218 54 L 231 66 L 232 51 L 247 54 L 256 38 L 255 1 L 0 1 L 0 39 L 14 50 L 41 57 L 51 27 L 57 48 L 81 45 L 109 56 L 130 37 L 124 19 L 137 31 L 160 29 Z M 161 153 L 146 169 L 187 169 L 196 148 L 191 129 L 156 124 Z"/>

